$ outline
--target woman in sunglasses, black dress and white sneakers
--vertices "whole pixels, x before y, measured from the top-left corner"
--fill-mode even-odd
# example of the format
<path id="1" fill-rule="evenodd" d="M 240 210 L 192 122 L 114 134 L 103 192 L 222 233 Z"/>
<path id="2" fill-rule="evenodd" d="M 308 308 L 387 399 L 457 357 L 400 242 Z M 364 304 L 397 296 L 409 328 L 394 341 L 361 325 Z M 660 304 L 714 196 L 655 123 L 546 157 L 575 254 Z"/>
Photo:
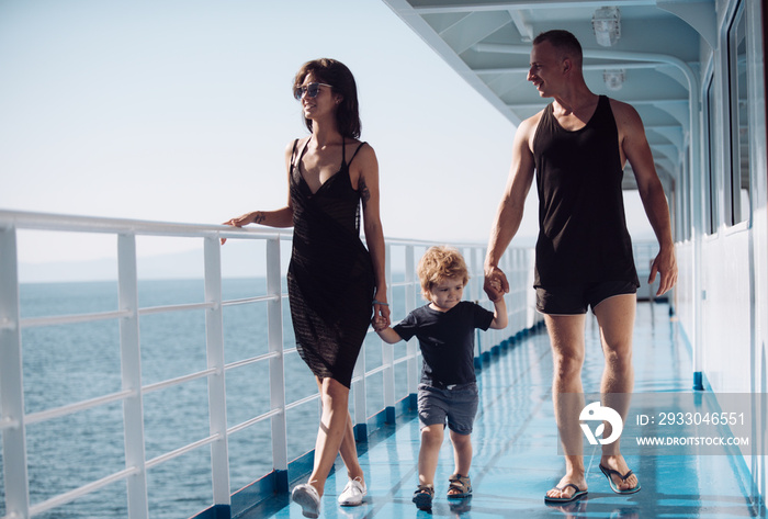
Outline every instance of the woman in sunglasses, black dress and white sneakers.
<path id="1" fill-rule="evenodd" d="M 320 497 L 336 454 L 349 482 L 339 504 L 357 506 L 365 495 L 348 410 L 358 353 L 374 316 L 389 321 L 384 277 L 384 234 L 379 215 L 379 163 L 360 143 L 358 93 L 350 70 L 334 59 L 306 63 L 294 79 L 308 137 L 285 149 L 289 201 L 278 211 L 256 211 L 226 222 L 294 227 L 287 273 L 296 347 L 320 391 L 323 416 L 309 482 L 293 500 L 318 517 Z M 369 249 L 360 240 L 360 206 Z M 375 295 L 375 298 L 374 298 Z"/>

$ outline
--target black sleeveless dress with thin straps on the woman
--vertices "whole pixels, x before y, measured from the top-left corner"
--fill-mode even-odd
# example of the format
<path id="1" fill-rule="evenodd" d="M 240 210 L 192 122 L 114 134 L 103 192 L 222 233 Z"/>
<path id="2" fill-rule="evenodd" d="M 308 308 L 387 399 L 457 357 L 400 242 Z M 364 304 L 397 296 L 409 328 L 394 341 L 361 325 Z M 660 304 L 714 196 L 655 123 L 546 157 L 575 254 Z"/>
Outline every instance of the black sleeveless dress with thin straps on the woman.
<path id="1" fill-rule="evenodd" d="M 360 240 L 360 193 L 349 178 L 346 145 L 339 171 L 313 193 L 300 168 L 308 142 L 298 156 L 294 142 L 291 156 L 291 317 L 296 348 L 312 372 L 349 387 L 373 314 L 373 263 Z"/>

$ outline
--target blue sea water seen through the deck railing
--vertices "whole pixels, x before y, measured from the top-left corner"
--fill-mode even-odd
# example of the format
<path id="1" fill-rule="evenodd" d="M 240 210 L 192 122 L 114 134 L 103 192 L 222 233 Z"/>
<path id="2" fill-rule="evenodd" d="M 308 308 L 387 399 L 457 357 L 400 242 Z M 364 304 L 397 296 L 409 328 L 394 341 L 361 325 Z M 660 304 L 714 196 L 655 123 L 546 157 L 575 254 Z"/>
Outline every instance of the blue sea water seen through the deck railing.
<path id="1" fill-rule="evenodd" d="M 159 307 L 202 303 L 202 280 L 139 281 L 139 306 Z M 223 297 L 241 300 L 266 294 L 263 279 L 223 280 Z M 41 283 L 20 287 L 22 318 L 118 309 L 116 282 Z M 189 309 L 142 315 L 142 384 L 144 386 L 206 369 L 205 312 Z M 225 362 L 268 352 L 267 304 L 225 306 Z M 283 339 L 293 348 L 287 301 L 283 301 Z M 371 342 L 371 335 L 366 341 Z M 33 414 L 121 391 L 120 324 L 117 319 L 84 324 L 27 327 L 22 330 L 24 407 Z M 381 342 L 370 348 L 381 352 Z M 371 354 L 369 354 L 371 357 Z M 317 391 L 297 354 L 285 356 L 286 400 Z M 371 359 L 376 362 L 375 358 Z M 270 409 L 269 362 L 228 370 L 227 426 L 233 427 Z M 375 390 L 376 384 L 371 384 Z M 375 399 L 375 398 L 374 398 Z M 145 459 L 206 438 L 207 381 L 150 392 L 144 396 Z M 375 405 L 375 404 L 374 404 Z M 319 403 L 286 414 L 289 459 L 314 448 Z M 79 488 L 125 469 L 123 406 L 114 403 L 26 429 L 31 503 Z M 272 470 L 270 421 L 264 420 L 228 438 L 230 492 Z M 1 462 L 1 459 L 0 459 Z M 0 493 L 3 490 L 0 471 Z M 190 517 L 211 506 L 211 455 L 203 447 L 147 471 L 153 518 Z M 0 494 L 0 516 L 5 515 Z M 124 481 L 57 507 L 42 518 L 127 517 Z"/>

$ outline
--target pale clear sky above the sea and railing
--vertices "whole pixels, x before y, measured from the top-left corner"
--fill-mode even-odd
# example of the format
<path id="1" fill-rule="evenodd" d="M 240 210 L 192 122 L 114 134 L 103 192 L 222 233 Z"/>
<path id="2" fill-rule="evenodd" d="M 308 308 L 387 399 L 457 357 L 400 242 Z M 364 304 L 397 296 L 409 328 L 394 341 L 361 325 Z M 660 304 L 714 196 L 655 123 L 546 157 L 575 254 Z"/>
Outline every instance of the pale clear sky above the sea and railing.
<path id="1" fill-rule="evenodd" d="M 291 82 L 318 57 L 358 81 L 385 235 L 486 241 L 516 128 L 381 0 L 3 0 L 0 208 L 221 223 L 279 207 L 283 150 L 306 135 Z M 32 235 L 22 261 L 50 260 Z"/>

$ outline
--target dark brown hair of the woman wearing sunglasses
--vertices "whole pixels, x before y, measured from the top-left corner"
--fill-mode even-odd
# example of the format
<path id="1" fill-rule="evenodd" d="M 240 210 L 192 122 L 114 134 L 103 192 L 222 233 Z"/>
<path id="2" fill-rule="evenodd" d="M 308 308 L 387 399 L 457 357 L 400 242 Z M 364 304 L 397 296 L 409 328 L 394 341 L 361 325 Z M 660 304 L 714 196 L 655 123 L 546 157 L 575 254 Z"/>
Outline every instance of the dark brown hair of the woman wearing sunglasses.
<path id="1" fill-rule="evenodd" d="M 358 106 L 358 86 L 349 68 L 341 61 L 329 58 L 307 61 L 296 72 L 296 77 L 293 80 L 294 94 L 309 74 L 315 77 L 317 82 L 332 86 L 334 92 L 342 97 L 341 103 L 336 110 L 336 122 L 341 135 L 350 138 L 360 137 L 362 124 L 360 123 L 360 109 Z M 312 121 L 305 117 L 304 124 L 312 132 Z"/>

